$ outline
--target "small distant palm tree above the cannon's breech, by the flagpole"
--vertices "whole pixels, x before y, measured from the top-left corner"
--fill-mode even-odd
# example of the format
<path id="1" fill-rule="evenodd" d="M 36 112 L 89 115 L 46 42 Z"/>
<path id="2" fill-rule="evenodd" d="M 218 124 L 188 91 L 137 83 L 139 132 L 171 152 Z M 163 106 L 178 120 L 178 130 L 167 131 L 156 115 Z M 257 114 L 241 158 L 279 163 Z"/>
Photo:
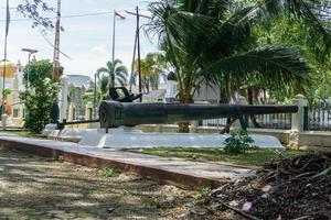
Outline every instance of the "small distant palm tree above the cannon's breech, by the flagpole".
<path id="1" fill-rule="evenodd" d="M 128 69 L 122 65 L 120 59 L 115 59 L 113 62 L 107 62 L 106 67 L 97 69 L 97 75 L 108 74 L 109 75 L 109 86 L 108 88 L 115 87 L 117 84 L 120 86 L 127 85 L 128 80 Z"/>

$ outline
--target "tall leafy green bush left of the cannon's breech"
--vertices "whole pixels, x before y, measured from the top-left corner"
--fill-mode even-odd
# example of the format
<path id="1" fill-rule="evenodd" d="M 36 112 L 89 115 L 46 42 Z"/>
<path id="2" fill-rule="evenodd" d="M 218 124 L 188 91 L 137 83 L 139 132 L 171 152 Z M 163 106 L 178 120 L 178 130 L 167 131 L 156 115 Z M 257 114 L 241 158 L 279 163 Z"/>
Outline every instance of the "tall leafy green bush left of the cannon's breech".
<path id="1" fill-rule="evenodd" d="M 20 94 L 26 108 L 25 127 L 40 133 L 50 123 L 51 106 L 57 97 L 58 84 L 47 78 L 52 72 L 49 61 L 33 62 L 24 68 L 24 76 L 28 76 L 26 72 L 30 89 Z"/>

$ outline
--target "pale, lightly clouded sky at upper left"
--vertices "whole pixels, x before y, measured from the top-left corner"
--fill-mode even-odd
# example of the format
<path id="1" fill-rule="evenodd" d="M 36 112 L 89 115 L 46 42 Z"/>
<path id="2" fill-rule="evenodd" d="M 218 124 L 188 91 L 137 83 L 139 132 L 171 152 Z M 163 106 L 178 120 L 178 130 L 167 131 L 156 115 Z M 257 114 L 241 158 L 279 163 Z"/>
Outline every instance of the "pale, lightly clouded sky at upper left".
<path id="1" fill-rule="evenodd" d="M 10 7 L 14 8 L 23 0 L 10 0 Z M 50 6 L 55 7 L 56 0 L 47 0 Z M 113 11 L 117 10 L 126 19 L 116 20 L 116 52 L 115 57 L 124 62 L 130 72 L 136 16 L 125 12 L 135 11 L 139 6 L 140 13 L 148 15 L 147 1 L 141 0 L 62 0 L 62 26 L 60 47 L 63 53 L 71 57 L 60 55 L 60 63 L 64 66 L 64 74 L 79 74 L 93 77 L 96 69 L 106 65 L 111 59 L 113 42 Z M 86 15 L 90 13 L 109 12 L 98 15 Z M 84 15 L 85 14 L 85 15 Z M 72 16 L 70 15 L 82 15 Z M 51 14 L 51 16 L 55 16 Z M 23 19 L 22 14 L 11 9 L 11 23 L 8 36 L 8 59 L 25 65 L 28 53 L 22 52 L 23 47 L 38 50 L 36 59 L 53 59 L 53 47 L 42 36 L 41 29 L 32 29 L 32 21 L 14 21 Z M 0 0 L 0 59 L 3 59 L 4 30 L 6 30 L 6 0 Z M 147 19 L 140 19 L 141 24 L 147 23 Z M 49 42 L 53 44 L 54 33 L 46 35 Z M 141 32 L 141 57 L 149 52 L 156 52 L 156 43 L 151 43 Z"/>

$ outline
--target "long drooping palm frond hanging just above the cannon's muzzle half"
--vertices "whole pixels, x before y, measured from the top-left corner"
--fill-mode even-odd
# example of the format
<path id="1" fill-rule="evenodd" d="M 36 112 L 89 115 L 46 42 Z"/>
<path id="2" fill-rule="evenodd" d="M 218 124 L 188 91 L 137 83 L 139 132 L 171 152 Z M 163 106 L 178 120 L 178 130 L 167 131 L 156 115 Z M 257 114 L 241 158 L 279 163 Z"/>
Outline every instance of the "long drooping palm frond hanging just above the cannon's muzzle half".
<path id="1" fill-rule="evenodd" d="M 229 75 L 235 81 L 243 81 L 255 75 L 269 84 L 305 84 L 310 67 L 299 56 L 298 51 L 282 45 L 269 45 L 246 53 L 220 59 L 203 70 L 207 79 Z M 207 73 L 207 74 L 206 74 Z"/>

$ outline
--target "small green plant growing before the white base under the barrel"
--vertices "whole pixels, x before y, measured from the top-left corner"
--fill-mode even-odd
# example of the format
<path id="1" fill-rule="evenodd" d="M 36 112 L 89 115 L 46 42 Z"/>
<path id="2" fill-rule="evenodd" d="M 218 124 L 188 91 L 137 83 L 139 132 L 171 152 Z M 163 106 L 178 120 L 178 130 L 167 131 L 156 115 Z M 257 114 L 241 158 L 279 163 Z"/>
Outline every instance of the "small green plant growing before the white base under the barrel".
<path id="1" fill-rule="evenodd" d="M 231 136 L 224 141 L 224 151 L 228 154 L 242 154 L 248 150 L 255 148 L 254 140 L 245 130 L 231 132 Z"/>

